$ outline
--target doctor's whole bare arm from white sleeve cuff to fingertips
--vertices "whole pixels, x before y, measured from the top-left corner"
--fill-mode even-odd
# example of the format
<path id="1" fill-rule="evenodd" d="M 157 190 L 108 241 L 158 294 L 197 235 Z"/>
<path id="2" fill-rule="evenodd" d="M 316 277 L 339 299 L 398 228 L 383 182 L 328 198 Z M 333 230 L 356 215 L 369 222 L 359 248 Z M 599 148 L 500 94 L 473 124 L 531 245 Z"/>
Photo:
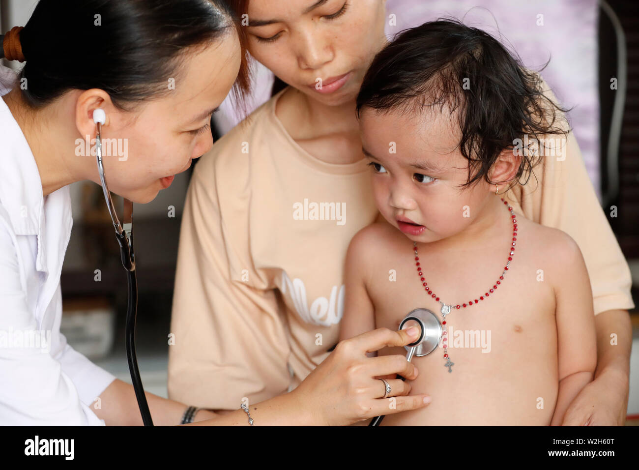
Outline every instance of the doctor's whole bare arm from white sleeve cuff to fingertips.
<path id="1" fill-rule="evenodd" d="M 414 341 L 407 331 L 380 328 L 342 341 L 319 366 L 293 391 L 261 403 L 250 404 L 250 416 L 257 426 L 350 425 L 380 414 L 418 409 L 427 405 L 427 395 L 408 396 L 410 387 L 394 390 L 396 408 L 380 399 L 380 386 L 373 377 L 399 373 L 415 379 L 417 368 L 403 356 L 366 357 L 366 352 L 383 347 L 403 346 Z M 146 393 L 153 424 L 171 426 L 180 423 L 186 406 Z M 106 425 L 142 425 L 133 386 L 114 380 L 100 395 L 100 408 L 94 412 Z M 197 412 L 199 426 L 248 426 L 242 409 L 216 414 Z"/>

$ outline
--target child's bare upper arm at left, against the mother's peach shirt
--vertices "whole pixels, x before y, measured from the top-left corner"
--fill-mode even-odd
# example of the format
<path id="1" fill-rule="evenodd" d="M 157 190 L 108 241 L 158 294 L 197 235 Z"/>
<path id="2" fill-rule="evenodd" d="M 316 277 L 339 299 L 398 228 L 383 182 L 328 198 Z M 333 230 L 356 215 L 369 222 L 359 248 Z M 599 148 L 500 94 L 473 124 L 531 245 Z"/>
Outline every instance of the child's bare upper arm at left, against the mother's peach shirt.
<path id="1" fill-rule="evenodd" d="M 346 252 L 344 266 L 344 315 L 339 329 L 339 341 L 353 338 L 375 329 L 373 302 L 366 290 L 374 253 L 373 230 L 363 228 L 355 234 Z M 374 352 L 369 356 L 376 356 Z"/>

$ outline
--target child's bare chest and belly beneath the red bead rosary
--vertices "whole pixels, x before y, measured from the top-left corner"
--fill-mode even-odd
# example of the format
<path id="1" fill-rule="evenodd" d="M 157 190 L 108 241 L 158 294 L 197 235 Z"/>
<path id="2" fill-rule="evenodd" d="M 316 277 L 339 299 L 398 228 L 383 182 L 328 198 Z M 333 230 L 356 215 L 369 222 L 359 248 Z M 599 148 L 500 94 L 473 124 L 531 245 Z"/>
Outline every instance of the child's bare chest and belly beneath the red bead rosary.
<path id="1" fill-rule="evenodd" d="M 406 261 L 391 250 L 369 276 L 376 327 L 397 329 L 415 308 L 430 309 L 442 320 L 442 306 L 423 282 L 440 301 L 460 308 L 447 315 L 447 334 L 437 349 L 413 358 L 420 372 L 413 392 L 428 393 L 433 403 L 385 424 L 548 424 L 557 398 L 557 330 L 554 291 L 544 279 L 541 258 L 521 250 L 500 279 L 505 261 L 491 262 L 490 256 L 481 267 L 452 259 L 428 263 L 424 256 L 421 281 L 410 241 L 406 246 Z"/>

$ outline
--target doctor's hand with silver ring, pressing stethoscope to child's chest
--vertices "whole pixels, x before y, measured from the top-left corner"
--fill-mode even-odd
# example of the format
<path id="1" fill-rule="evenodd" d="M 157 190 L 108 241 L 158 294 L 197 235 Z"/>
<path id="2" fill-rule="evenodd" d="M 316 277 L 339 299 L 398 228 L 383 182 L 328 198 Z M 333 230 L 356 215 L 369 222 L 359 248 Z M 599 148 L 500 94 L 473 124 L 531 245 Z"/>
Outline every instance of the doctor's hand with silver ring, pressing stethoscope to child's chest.
<path id="1" fill-rule="evenodd" d="M 410 330 L 415 330 L 413 336 Z M 392 389 L 387 398 L 384 384 L 376 377 L 396 374 L 413 380 L 417 368 L 406 357 L 367 357 L 367 352 L 383 347 L 404 346 L 416 340 L 417 328 L 392 331 L 378 328 L 341 341 L 335 350 L 297 386 L 291 395 L 300 400 L 300 408 L 311 413 L 317 425 L 343 426 L 383 414 L 422 408 L 428 395 L 408 395 L 410 385 L 399 379 L 387 380 Z"/>

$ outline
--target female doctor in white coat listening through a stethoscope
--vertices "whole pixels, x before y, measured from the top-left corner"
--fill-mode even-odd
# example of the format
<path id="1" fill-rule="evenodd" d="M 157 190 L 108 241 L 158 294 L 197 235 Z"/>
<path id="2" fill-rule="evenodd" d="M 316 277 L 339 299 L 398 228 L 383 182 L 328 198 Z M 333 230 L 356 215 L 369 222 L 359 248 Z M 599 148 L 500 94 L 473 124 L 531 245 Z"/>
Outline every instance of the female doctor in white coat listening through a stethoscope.
<path id="1" fill-rule="evenodd" d="M 111 190 L 153 200 L 211 148 L 210 118 L 231 88 L 247 91 L 240 30 L 221 0 L 41 0 L 24 29 L 5 36 L 6 59 L 26 65 L 17 76 L 0 68 L 0 424 L 142 423 L 132 386 L 59 332 L 68 185 L 100 181 L 95 156 L 77 157 L 75 141 L 95 139 L 93 112 L 104 110 L 102 136 L 127 139 L 129 150 L 123 161 L 105 156 Z M 366 356 L 414 341 L 408 331 L 339 343 L 294 391 L 251 405 L 250 417 L 257 425 L 348 425 L 425 406 L 429 398 L 408 395 L 404 384 L 389 409 L 375 377 L 414 379 L 417 369 L 403 356 Z M 50 332 L 45 349 L 24 341 L 41 332 Z M 184 419 L 186 404 L 146 397 L 158 425 L 249 425 L 240 403 L 224 416 L 201 410 Z"/>

